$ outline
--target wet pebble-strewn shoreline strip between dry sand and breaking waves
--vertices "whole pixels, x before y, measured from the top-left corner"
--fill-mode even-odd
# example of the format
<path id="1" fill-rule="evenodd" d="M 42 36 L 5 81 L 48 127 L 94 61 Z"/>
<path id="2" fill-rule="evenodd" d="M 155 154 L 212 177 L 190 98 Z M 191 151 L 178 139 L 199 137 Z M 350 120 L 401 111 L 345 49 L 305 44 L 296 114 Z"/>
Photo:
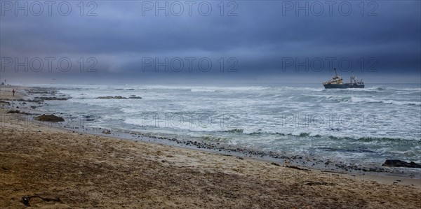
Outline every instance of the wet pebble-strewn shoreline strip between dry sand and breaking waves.
<path id="1" fill-rule="evenodd" d="M 17 89 L 18 87 L 15 86 L 6 86 L 6 92 L 11 92 L 12 88 Z M 51 88 L 51 87 L 20 87 L 20 90 L 31 92 L 33 94 L 41 94 L 41 98 L 46 98 L 48 94 L 56 94 L 58 89 Z M 11 93 L 10 93 L 11 94 Z M 1 96 L 4 97 L 4 94 L 1 94 L 0 91 L 0 98 Z M 10 95 L 9 95 L 10 96 Z M 61 96 L 65 96 L 62 94 Z M 330 173 L 339 173 L 342 175 L 352 175 L 353 177 L 360 176 L 361 179 L 364 178 L 364 175 L 367 176 L 382 176 L 382 177 L 399 177 L 399 178 L 408 178 L 410 180 L 420 180 L 420 187 L 421 187 L 421 169 L 419 168 L 402 168 L 402 167 L 385 167 L 385 166 L 363 166 L 361 164 L 345 164 L 342 161 L 335 161 L 333 159 L 318 159 L 317 157 L 313 156 L 305 156 L 300 154 L 291 154 L 285 152 L 265 152 L 262 150 L 253 150 L 248 147 L 241 147 L 237 145 L 229 145 L 224 143 L 216 143 L 216 142 L 207 142 L 204 140 L 184 140 L 180 138 L 168 138 L 168 137 L 159 137 L 159 136 L 152 136 L 148 134 L 144 134 L 139 131 L 128 131 L 123 129 L 102 129 L 102 128 L 95 128 L 95 127 L 84 127 L 84 124 L 89 124 L 91 118 L 84 118 L 82 117 L 74 117 L 69 115 L 69 118 L 66 115 L 62 115 L 66 122 L 39 122 L 34 120 L 32 115 L 41 115 L 45 112 L 37 110 L 31 104 L 36 102 L 38 106 L 36 108 L 42 107 L 45 105 L 44 101 L 41 102 L 36 101 L 34 98 L 40 98 L 38 96 L 32 96 L 32 100 L 29 99 L 29 95 L 25 95 L 23 92 L 17 92 L 17 95 L 13 98 L 6 97 L 6 99 L 15 99 L 15 101 L 21 101 L 19 103 L 20 110 L 22 110 L 23 115 L 25 115 L 26 123 L 36 123 L 47 125 L 51 127 L 55 127 L 58 129 L 63 129 L 66 131 L 75 131 L 78 133 L 83 134 L 92 134 L 95 136 L 105 136 L 117 139 L 124 139 L 124 140 L 139 140 L 146 143 L 156 143 L 160 145 L 170 145 L 174 147 L 181 147 L 187 148 L 190 150 L 202 151 L 202 152 L 210 152 L 215 154 L 222 154 L 222 155 L 232 155 L 235 157 L 248 157 L 250 159 L 255 159 L 258 161 L 265 161 L 274 164 L 281 164 L 283 166 L 298 166 L 299 168 L 303 169 L 315 169 L 321 172 L 330 172 Z M 58 97 L 53 97 L 53 100 L 62 100 Z M 65 97 L 63 97 L 65 98 Z M 0 99 L 1 100 L 1 99 Z M 28 103 L 26 103 L 28 102 Z M 18 105 L 17 103 L 15 103 Z M 1 103 L 0 103 L 1 105 Z M 30 108 L 32 107 L 32 108 Z M 19 115 L 21 115 L 20 113 Z M 51 114 L 51 113 L 45 113 Z M 95 120 L 95 118 L 93 119 Z M 397 182 L 395 182 L 397 183 Z"/>

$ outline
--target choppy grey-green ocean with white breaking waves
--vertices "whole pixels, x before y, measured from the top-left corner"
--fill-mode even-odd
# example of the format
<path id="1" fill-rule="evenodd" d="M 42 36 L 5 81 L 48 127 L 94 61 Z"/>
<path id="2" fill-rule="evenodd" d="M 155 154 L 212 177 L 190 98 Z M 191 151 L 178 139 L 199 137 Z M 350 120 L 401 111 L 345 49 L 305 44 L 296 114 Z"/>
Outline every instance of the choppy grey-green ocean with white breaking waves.
<path id="1" fill-rule="evenodd" d="M 70 99 L 46 101 L 41 110 L 89 119 L 85 127 L 366 166 L 378 166 L 385 159 L 421 163 L 420 84 L 366 85 L 364 89 L 324 89 L 319 84 L 44 87 Z"/>

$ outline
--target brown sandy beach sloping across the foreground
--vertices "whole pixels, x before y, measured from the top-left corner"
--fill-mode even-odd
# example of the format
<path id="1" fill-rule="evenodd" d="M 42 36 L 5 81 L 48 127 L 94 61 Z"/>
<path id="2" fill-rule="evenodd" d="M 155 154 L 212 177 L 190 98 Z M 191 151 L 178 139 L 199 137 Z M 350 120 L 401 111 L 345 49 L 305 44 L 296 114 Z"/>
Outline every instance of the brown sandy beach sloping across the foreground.
<path id="1" fill-rule="evenodd" d="M 1 87 L 0 101 L 11 96 Z M 0 208 L 420 208 L 420 179 L 322 172 L 28 122 L 0 103 Z M 25 199 L 26 198 L 26 199 Z M 24 199 L 22 201 L 22 199 Z M 25 200 L 27 200 L 25 202 Z"/>

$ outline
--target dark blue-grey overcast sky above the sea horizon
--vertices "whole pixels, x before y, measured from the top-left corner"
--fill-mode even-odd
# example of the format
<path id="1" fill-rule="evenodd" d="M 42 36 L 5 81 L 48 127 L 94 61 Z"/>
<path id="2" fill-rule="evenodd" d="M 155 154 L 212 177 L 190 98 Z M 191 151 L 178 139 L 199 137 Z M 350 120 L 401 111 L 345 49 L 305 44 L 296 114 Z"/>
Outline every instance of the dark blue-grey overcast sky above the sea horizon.
<path id="1" fill-rule="evenodd" d="M 420 1 L 4 1 L 6 83 L 421 82 Z"/>

